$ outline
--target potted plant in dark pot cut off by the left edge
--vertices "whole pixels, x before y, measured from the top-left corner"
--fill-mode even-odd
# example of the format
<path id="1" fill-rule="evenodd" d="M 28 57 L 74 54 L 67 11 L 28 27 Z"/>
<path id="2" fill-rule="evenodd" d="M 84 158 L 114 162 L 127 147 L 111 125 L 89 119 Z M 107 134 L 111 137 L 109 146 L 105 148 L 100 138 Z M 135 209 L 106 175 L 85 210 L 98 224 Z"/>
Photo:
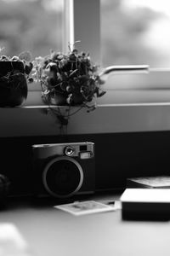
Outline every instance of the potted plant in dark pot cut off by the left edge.
<path id="1" fill-rule="evenodd" d="M 17 107 L 26 100 L 32 67 L 30 52 L 0 55 L 0 107 Z"/>

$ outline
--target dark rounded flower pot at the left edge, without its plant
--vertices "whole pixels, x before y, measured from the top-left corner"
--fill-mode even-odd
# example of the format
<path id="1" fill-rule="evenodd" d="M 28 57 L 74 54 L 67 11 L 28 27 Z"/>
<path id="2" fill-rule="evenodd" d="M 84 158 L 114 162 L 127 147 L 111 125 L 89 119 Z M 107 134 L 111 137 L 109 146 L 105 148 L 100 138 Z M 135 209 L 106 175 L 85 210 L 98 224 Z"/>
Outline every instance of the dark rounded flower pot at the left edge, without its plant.
<path id="1" fill-rule="evenodd" d="M 22 61 L 0 61 L 0 107 L 20 106 L 27 97 L 25 67 Z"/>

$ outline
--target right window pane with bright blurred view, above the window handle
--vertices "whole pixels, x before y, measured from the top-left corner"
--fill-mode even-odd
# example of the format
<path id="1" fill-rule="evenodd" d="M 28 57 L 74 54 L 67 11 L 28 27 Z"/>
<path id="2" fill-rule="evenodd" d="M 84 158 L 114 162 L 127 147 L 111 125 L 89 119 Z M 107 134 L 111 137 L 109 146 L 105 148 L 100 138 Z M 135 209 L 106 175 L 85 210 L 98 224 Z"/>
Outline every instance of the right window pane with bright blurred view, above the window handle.
<path id="1" fill-rule="evenodd" d="M 100 1 L 104 66 L 170 66 L 169 0 Z"/>

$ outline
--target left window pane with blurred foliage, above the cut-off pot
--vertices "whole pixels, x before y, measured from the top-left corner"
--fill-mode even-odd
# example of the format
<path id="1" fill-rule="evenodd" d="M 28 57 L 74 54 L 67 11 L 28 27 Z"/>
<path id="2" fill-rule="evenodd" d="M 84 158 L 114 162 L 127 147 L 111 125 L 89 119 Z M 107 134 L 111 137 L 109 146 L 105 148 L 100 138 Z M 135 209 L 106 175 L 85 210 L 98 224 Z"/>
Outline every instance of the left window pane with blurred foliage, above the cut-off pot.
<path id="1" fill-rule="evenodd" d="M 0 0 L 0 47 L 13 56 L 30 50 L 33 58 L 62 50 L 63 0 Z"/>

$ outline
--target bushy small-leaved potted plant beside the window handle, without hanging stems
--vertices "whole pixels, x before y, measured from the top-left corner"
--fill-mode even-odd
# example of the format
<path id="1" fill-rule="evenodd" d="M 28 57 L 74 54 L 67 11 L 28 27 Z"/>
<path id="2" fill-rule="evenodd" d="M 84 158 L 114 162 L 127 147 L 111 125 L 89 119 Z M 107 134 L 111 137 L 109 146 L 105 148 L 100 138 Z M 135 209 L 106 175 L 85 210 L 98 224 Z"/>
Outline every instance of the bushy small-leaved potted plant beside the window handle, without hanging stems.
<path id="1" fill-rule="evenodd" d="M 68 54 L 51 51 L 33 61 L 33 77 L 42 87 L 42 100 L 55 106 L 87 106 L 94 96 L 103 96 L 98 67 L 89 54 L 74 48 Z"/>

